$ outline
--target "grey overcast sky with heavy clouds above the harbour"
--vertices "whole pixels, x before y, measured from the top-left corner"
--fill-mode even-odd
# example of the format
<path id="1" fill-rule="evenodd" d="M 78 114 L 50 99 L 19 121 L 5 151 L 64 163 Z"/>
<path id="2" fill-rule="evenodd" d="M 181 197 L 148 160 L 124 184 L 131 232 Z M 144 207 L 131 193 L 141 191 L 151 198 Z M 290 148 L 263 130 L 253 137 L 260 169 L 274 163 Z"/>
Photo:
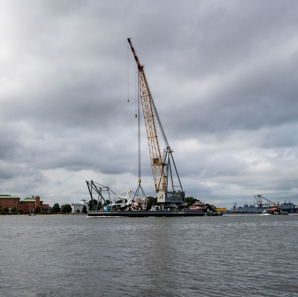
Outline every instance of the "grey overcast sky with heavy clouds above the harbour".
<path id="1" fill-rule="evenodd" d="M 298 1 L 0 3 L 0 194 L 136 190 L 131 37 L 186 197 L 298 204 Z"/>

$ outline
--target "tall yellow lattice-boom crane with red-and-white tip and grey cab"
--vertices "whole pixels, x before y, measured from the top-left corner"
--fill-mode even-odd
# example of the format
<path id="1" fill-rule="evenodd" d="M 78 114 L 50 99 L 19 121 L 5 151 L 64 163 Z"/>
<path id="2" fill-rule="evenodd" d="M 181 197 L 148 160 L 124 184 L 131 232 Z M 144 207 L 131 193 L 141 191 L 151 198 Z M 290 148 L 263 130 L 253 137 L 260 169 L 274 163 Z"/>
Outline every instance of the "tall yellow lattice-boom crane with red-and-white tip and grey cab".
<path id="1" fill-rule="evenodd" d="M 187 204 L 185 203 L 185 194 L 182 189 L 180 178 L 173 159 L 173 150 L 168 144 L 167 137 L 164 133 L 162 123 L 148 86 L 144 70 L 145 66 L 140 63 L 134 46 L 131 42 L 131 38 L 128 38 L 128 43 L 134 54 L 136 65 L 139 71 L 139 91 L 148 137 L 151 167 L 155 183 L 155 190 L 157 193 L 157 202 L 161 202 L 165 209 L 175 207 L 181 208 Z M 166 144 L 166 149 L 164 149 L 163 156 L 161 156 L 159 147 L 155 118 Z M 178 186 L 175 185 L 176 180 L 177 183 L 179 183 Z M 140 183 L 141 180 L 139 180 L 139 184 Z M 179 188 L 179 190 L 176 190 L 176 188 Z"/>

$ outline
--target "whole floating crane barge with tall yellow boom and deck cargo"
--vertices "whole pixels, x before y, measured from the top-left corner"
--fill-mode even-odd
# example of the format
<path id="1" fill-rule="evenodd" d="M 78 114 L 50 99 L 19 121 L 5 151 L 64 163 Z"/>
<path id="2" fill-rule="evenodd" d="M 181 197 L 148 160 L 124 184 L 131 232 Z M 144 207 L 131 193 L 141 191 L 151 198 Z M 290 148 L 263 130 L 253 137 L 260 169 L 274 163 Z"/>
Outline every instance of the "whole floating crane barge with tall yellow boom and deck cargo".
<path id="1" fill-rule="evenodd" d="M 116 203 L 114 206 L 112 204 L 107 205 L 107 203 L 105 203 L 107 206 L 103 210 L 98 210 L 97 208 L 99 205 L 102 205 L 102 201 L 104 200 L 106 202 L 102 195 L 102 191 L 108 187 L 102 185 L 97 186 L 93 181 L 86 181 L 95 209 L 94 211 L 88 211 L 88 216 L 204 216 L 203 211 L 185 209 L 185 206 L 187 206 L 187 203 L 185 202 L 185 192 L 182 189 L 181 181 L 172 155 L 173 149 L 170 148 L 156 110 L 145 75 L 145 66 L 140 63 L 131 38 L 128 38 L 128 43 L 134 55 L 139 73 L 139 94 L 147 131 L 153 180 L 157 194 L 157 202 L 159 202 L 159 205 L 153 206 L 150 210 L 145 210 L 144 203 L 148 199 L 146 200 L 145 194 L 142 191 L 144 197 L 136 197 L 135 199 L 123 199 L 123 197 L 118 197 L 116 195 L 114 197 L 120 198 L 118 206 Z M 162 137 L 166 145 L 166 148 L 163 150 L 163 155 L 161 154 L 159 140 L 157 137 L 157 126 L 162 133 Z M 140 175 L 138 189 L 139 188 L 141 188 Z M 93 197 L 94 192 L 98 194 L 98 199 Z M 139 191 L 137 190 L 137 192 Z M 141 201 L 144 201 L 142 202 L 143 207 L 138 204 Z M 138 204 L 137 208 L 135 207 L 136 204 Z"/>

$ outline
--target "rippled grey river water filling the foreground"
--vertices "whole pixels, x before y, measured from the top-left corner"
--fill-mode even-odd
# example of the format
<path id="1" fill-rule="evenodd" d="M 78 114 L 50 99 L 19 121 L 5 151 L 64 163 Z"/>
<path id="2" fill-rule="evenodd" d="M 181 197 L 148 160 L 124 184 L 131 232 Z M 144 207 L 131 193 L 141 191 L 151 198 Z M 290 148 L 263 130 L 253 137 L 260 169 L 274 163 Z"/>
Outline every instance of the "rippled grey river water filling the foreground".
<path id="1" fill-rule="evenodd" d="M 298 296 L 298 215 L 0 216 L 0 296 Z"/>

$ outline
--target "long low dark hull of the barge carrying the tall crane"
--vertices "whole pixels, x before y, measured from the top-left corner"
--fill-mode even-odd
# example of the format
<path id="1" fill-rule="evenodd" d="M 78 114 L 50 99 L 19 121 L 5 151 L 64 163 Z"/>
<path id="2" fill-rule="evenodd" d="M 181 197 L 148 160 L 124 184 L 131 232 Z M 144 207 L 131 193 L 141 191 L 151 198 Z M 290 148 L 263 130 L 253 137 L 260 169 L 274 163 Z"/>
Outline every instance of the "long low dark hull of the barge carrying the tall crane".
<path id="1" fill-rule="evenodd" d="M 140 210 L 140 211 L 133 211 L 133 210 L 108 210 L 108 211 L 88 211 L 88 216 L 91 217 L 164 217 L 164 216 L 204 216 L 203 211 L 166 211 L 166 210 L 159 210 L 159 211 L 147 211 L 147 210 Z"/>

